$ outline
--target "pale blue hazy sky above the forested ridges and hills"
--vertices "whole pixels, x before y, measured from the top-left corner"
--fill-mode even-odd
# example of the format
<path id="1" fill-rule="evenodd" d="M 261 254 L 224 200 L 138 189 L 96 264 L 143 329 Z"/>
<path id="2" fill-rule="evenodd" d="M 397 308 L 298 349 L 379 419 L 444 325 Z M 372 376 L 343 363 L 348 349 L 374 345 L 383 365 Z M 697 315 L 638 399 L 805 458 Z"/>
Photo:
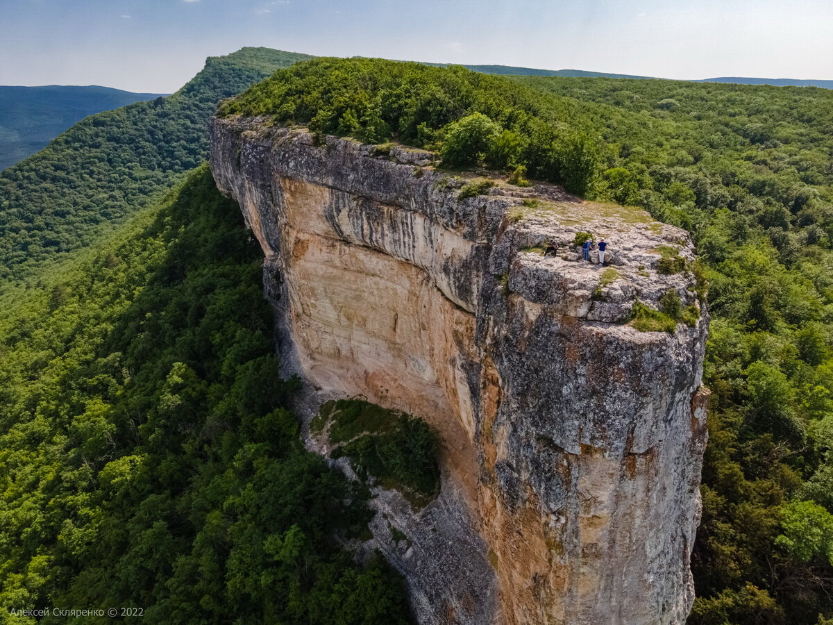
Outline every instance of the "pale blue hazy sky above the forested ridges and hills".
<path id="1" fill-rule="evenodd" d="M 666 78 L 833 79 L 831 0 L 0 0 L 0 84 L 174 92 L 243 46 Z"/>

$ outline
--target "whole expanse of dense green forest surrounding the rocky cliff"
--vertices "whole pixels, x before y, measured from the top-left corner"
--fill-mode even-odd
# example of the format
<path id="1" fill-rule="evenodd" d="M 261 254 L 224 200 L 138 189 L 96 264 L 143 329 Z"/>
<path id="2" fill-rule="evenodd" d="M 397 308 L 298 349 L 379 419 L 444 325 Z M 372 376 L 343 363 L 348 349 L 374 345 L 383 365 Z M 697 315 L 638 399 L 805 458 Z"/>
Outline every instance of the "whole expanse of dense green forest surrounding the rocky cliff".
<path id="1" fill-rule="evenodd" d="M 199 170 L 95 243 L 203 158 L 219 97 L 302 57 L 210 59 L 162 103 L 90 117 L 0 174 L 2 278 L 48 285 L 0 319 L 4 606 L 405 618 L 382 562 L 356 567 L 330 540 L 361 531 L 364 493 L 297 442 L 237 208 Z M 690 230 L 712 315 L 690 622 L 833 617 L 833 92 L 325 58 L 235 113 L 434 149 Z M 85 264 L 44 264 L 90 245 Z"/>

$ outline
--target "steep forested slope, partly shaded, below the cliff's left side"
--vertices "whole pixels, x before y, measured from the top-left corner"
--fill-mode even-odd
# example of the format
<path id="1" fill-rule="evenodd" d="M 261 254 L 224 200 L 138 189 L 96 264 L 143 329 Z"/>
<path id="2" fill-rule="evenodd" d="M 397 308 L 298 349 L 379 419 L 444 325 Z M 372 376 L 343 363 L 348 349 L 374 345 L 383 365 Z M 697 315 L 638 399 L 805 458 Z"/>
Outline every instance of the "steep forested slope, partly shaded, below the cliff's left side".
<path id="1" fill-rule="evenodd" d="M 298 438 L 260 258 L 202 166 L 4 312 L 4 613 L 408 621 L 382 558 L 339 547 L 367 529 L 365 495 Z"/>

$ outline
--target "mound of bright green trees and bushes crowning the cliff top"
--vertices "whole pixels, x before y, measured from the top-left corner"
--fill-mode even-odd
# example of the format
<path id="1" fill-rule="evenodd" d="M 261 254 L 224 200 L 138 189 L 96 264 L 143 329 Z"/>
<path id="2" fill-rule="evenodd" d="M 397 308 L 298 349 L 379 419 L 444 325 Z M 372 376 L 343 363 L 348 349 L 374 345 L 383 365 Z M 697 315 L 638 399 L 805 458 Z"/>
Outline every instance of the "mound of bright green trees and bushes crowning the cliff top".
<path id="1" fill-rule="evenodd" d="M 559 98 L 460 66 L 316 58 L 275 72 L 219 112 L 271 115 L 365 143 L 396 138 L 439 149 L 444 166 L 522 165 L 579 194 L 596 173 L 596 143 Z"/>

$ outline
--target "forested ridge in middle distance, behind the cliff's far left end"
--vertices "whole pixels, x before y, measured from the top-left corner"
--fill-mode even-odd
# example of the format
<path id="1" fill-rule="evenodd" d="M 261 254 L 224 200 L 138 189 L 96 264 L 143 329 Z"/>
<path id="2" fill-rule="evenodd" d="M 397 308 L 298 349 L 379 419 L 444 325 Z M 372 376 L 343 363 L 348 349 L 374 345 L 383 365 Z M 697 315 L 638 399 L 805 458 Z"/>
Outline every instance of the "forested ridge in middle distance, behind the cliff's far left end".
<path id="1" fill-rule="evenodd" d="M 209 57 L 170 97 L 87 117 L 0 173 L 0 282 L 83 248 L 207 156 L 217 102 L 307 55 L 243 48 Z"/>

